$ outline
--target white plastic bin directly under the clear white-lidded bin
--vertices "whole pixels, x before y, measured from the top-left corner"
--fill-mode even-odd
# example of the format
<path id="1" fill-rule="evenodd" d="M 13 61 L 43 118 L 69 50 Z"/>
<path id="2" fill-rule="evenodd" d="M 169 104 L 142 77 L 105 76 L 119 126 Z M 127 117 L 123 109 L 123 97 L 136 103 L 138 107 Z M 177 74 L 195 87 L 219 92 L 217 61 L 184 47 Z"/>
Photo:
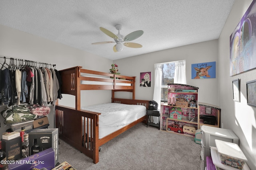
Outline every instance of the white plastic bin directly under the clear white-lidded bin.
<path id="1" fill-rule="evenodd" d="M 231 166 L 227 166 L 220 162 L 220 155 L 218 154 L 218 150 L 216 147 L 211 147 L 211 157 L 212 163 L 215 165 L 216 170 L 237 170 Z M 243 170 L 250 170 L 248 165 L 245 163 Z"/>

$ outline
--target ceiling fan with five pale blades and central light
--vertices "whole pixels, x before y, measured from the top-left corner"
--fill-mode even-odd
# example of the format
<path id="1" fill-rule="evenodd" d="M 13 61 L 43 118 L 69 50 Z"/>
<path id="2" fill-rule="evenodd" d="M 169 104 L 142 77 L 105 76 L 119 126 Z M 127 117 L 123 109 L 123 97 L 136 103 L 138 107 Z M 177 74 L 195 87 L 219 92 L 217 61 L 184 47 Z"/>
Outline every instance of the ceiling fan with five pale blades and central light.
<path id="1" fill-rule="evenodd" d="M 131 47 L 131 48 L 141 48 L 142 45 L 138 43 L 130 43 L 128 41 L 132 41 L 134 39 L 137 39 L 140 37 L 144 32 L 142 30 L 134 31 L 132 33 L 129 33 L 125 37 L 120 34 L 120 30 L 122 29 L 122 25 L 116 24 L 116 29 L 118 30 L 118 34 L 114 34 L 111 31 L 108 31 L 107 29 L 100 27 L 100 30 L 104 32 L 106 35 L 110 36 L 111 38 L 114 39 L 114 41 L 104 41 L 104 42 L 98 42 L 98 43 L 92 43 L 93 45 L 96 44 L 106 44 L 106 43 L 116 43 L 114 45 L 113 50 L 114 52 L 122 51 L 123 50 L 123 45 L 126 47 Z M 128 43 L 126 43 L 128 42 Z"/>

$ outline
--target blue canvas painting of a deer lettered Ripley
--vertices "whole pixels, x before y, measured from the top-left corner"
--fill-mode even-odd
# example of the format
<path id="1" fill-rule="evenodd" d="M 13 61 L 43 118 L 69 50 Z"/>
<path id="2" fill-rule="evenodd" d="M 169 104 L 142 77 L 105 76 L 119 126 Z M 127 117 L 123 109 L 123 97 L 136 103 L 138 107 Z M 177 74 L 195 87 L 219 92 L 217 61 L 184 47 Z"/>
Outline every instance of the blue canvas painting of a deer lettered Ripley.
<path id="1" fill-rule="evenodd" d="M 216 62 L 191 64 L 191 78 L 216 78 Z"/>

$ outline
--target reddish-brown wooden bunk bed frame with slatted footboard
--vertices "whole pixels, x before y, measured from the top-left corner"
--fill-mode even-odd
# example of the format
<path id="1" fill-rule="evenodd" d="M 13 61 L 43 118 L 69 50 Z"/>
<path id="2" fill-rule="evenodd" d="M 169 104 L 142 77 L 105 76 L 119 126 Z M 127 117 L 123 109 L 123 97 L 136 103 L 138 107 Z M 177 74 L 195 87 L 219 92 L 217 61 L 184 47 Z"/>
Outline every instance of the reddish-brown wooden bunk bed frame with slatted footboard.
<path id="1" fill-rule="evenodd" d="M 129 125 L 126 125 L 122 129 L 99 139 L 100 113 L 81 109 L 80 90 L 112 90 L 112 102 L 143 105 L 148 108 L 148 100 L 135 100 L 135 77 L 86 70 L 82 69 L 81 66 L 60 70 L 59 72 L 62 78 L 62 94 L 71 94 L 76 97 L 76 108 L 56 105 L 55 127 L 59 130 L 59 138 L 92 158 L 94 164 L 99 162 L 99 147 L 101 145 L 130 129 L 134 125 L 146 121 L 145 115 Z M 84 77 L 82 76 L 83 73 L 107 76 L 108 79 Z M 114 78 L 109 79 L 110 77 Z M 120 83 L 122 80 L 116 78 L 128 80 L 126 81 L 128 86 L 118 86 L 116 83 Z M 113 85 L 86 85 L 80 84 L 80 80 L 113 82 Z M 132 92 L 132 99 L 114 98 L 114 93 L 118 91 Z"/>

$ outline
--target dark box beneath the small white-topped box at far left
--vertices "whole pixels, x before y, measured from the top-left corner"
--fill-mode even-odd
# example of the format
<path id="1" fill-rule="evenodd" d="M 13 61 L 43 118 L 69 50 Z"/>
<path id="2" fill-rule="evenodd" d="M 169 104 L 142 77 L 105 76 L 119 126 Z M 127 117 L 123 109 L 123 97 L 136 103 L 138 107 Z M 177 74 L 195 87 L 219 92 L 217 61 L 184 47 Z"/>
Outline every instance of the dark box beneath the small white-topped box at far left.
<path id="1" fill-rule="evenodd" d="M 14 156 L 14 160 L 22 158 L 21 137 L 2 141 L 2 150 L 6 152 L 6 158 Z"/>

